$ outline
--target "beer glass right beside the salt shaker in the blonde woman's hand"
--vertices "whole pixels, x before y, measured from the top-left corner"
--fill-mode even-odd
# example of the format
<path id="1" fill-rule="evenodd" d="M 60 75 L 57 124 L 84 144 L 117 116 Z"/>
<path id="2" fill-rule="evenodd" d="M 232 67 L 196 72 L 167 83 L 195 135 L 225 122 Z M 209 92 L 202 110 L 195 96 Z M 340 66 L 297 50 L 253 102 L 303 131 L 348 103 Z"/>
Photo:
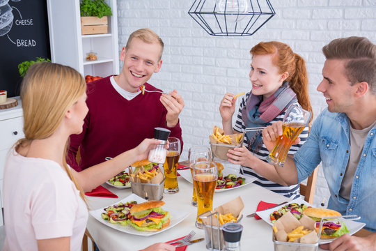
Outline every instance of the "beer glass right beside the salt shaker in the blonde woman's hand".
<path id="1" fill-rule="evenodd" d="M 178 187 L 178 162 L 180 157 L 180 140 L 175 137 L 169 137 L 169 149 L 166 154 L 166 161 L 163 164 L 164 169 L 164 192 L 179 192 Z"/>

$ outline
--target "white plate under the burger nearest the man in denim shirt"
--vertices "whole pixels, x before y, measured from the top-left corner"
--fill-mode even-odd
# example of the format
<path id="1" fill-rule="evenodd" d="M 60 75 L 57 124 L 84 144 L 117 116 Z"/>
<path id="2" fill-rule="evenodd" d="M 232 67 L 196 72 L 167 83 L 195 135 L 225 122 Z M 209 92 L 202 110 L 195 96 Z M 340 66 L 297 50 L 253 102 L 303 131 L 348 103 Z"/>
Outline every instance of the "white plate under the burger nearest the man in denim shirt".
<path id="1" fill-rule="evenodd" d="M 286 204 L 290 204 L 290 203 L 297 203 L 297 204 L 306 204 L 307 206 L 312 206 L 311 204 L 309 204 L 307 201 L 304 201 L 304 199 L 301 199 L 300 197 L 297 198 L 297 199 L 294 199 Z M 273 225 L 272 221 L 270 220 L 270 217 L 269 215 L 271 213 L 273 213 L 274 211 L 277 211 L 279 208 L 285 206 L 286 204 L 283 204 L 281 206 L 276 206 L 274 208 L 270 208 L 270 209 L 267 209 L 267 210 L 264 210 L 264 211 L 260 211 L 260 212 L 257 212 L 256 214 L 258 216 L 260 216 L 261 219 L 263 219 L 265 222 L 267 222 L 267 224 L 269 225 Z M 366 226 L 366 224 L 362 223 L 362 222 L 356 222 L 356 221 L 353 221 L 353 220 L 346 220 L 346 219 L 341 219 L 341 221 L 345 222 L 345 225 L 347 227 L 347 229 L 349 229 L 349 234 L 352 235 L 352 234 L 355 234 L 357 231 L 359 231 L 360 229 L 362 229 L 364 226 Z M 324 243 L 331 243 L 332 241 L 334 241 L 335 238 L 331 238 L 331 239 L 320 239 L 319 241 L 319 244 L 324 244 Z"/>

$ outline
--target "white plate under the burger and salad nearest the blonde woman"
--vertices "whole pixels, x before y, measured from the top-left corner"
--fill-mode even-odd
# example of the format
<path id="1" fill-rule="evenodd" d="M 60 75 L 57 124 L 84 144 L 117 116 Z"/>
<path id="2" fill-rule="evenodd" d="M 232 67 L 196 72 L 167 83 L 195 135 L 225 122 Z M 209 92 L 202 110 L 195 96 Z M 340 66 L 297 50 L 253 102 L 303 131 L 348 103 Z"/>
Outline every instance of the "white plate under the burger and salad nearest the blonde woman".
<path id="1" fill-rule="evenodd" d="M 146 199 L 143 199 L 143 198 L 141 198 L 137 195 L 132 194 L 132 195 L 120 200 L 120 201 L 117 201 L 115 204 L 118 204 L 119 202 L 125 203 L 127 201 L 137 201 L 137 203 L 142 203 L 142 202 L 145 202 Z M 113 206 L 113 204 L 111 204 L 109 206 Z M 107 220 L 102 219 L 102 213 L 104 213 L 104 210 L 103 210 L 104 208 L 100 208 L 100 209 L 97 209 L 97 210 L 90 211 L 90 214 L 96 220 L 99 220 L 100 222 L 102 222 L 104 225 L 107 225 L 108 227 L 111 227 L 111 228 L 116 229 L 118 231 L 122 231 L 122 232 L 127 233 L 127 234 L 134 234 L 134 235 L 138 235 L 138 236 L 152 236 L 152 235 L 155 235 L 155 234 L 162 233 L 162 231 L 166 231 L 167 229 L 171 229 L 171 227 L 178 225 L 178 223 L 182 222 L 182 220 L 187 218 L 187 216 L 189 215 L 188 211 L 181 211 L 181 210 L 175 211 L 175 210 L 166 208 L 164 206 L 162 206 L 162 208 L 164 209 L 164 211 L 169 211 L 171 213 L 171 218 L 170 218 L 169 227 L 166 227 L 166 228 L 159 230 L 159 231 L 139 231 L 139 230 L 134 229 L 134 227 L 132 227 L 130 225 L 123 226 L 123 225 L 120 225 L 120 224 L 112 224 L 112 223 L 108 222 Z"/>

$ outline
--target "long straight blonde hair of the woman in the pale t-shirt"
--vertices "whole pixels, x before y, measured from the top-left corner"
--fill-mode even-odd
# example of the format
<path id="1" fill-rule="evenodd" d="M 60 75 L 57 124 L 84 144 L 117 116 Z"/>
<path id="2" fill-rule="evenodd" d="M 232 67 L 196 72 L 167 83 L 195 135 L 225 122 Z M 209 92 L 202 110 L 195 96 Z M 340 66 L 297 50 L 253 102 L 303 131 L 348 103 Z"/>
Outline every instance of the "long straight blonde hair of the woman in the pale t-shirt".
<path id="1" fill-rule="evenodd" d="M 85 92 L 86 83 L 77 70 L 58 63 L 33 64 L 21 86 L 25 137 L 15 144 L 16 150 L 19 147 L 29 146 L 34 139 L 45 139 L 51 136 L 61 124 L 68 109 Z M 84 191 L 70 172 L 65 160 L 68 145 L 67 140 L 63 154 L 63 167 L 75 183 L 81 198 L 86 202 Z"/>

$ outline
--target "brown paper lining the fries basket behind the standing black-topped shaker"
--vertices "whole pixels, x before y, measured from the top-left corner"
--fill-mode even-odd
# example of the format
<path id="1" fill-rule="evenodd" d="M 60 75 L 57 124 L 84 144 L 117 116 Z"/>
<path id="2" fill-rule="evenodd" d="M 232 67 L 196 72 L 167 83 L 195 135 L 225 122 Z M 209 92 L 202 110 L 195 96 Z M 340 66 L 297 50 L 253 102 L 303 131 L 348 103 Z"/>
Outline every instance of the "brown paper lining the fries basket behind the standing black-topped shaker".
<path id="1" fill-rule="evenodd" d="M 227 213 L 233 213 L 233 216 L 237 218 L 236 222 L 239 222 L 242 219 L 242 213 L 244 209 L 244 204 L 241 197 L 237 197 L 233 199 L 232 201 L 228 201 L 226 204 L 223 204 L 221 206 L 218 206 L 217 208 L 214 208 L 214 211 L 212 213 L 217 212 L 221 213 L 222 215 L 225 215 Z M 214 227 L 218 226 L 218 220 L 217 218 L 212 215 L 212 225 Z M 205 225 L 210 225 L 210 218 L 203 218 L 203 223 Z"/>

